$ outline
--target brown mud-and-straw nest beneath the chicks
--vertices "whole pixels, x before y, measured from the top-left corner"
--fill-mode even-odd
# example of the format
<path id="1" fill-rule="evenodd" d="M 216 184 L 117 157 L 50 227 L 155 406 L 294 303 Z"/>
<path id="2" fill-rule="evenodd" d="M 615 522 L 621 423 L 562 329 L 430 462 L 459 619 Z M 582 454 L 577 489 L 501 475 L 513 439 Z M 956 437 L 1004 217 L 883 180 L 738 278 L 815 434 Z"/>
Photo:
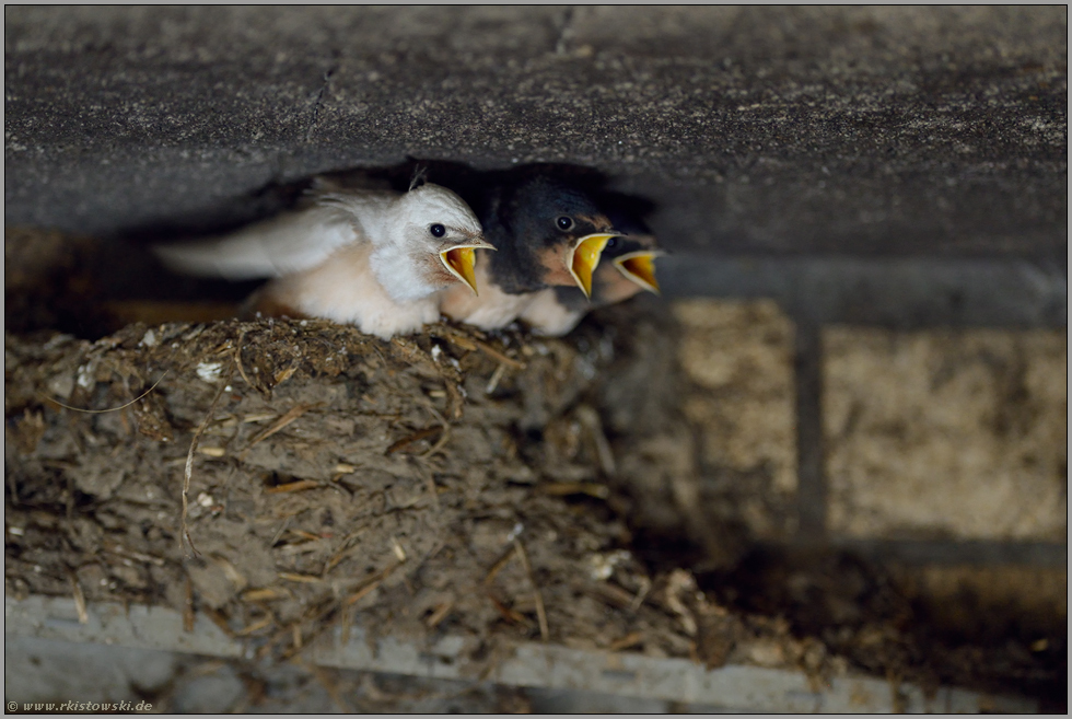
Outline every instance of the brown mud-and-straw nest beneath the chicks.
<path id="1" fill-rule="evenodd" d="M 14 595 L 199 611 L 260 657 L 360 625 L 461 635 L 470 659 L 544 639 L 825 665 L 630 552 L 590 404 L 613 345 L 592 332 L 135 324 L 5 352 Z"/>

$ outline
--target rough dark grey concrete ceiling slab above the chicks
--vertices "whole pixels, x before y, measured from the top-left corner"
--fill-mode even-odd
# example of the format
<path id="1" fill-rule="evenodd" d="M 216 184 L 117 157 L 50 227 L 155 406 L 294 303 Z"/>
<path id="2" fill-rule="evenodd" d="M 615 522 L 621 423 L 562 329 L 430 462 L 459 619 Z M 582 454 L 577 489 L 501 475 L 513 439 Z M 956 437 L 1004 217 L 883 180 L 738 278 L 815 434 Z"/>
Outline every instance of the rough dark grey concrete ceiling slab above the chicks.
<path id="1" fill-rule="evenodd" d="M 678 251 L 1065 253 L 1063 7 L 4 20 L 5 224 L 208 227 L 271 183 L 412 155 L 598 167 Z"/>

